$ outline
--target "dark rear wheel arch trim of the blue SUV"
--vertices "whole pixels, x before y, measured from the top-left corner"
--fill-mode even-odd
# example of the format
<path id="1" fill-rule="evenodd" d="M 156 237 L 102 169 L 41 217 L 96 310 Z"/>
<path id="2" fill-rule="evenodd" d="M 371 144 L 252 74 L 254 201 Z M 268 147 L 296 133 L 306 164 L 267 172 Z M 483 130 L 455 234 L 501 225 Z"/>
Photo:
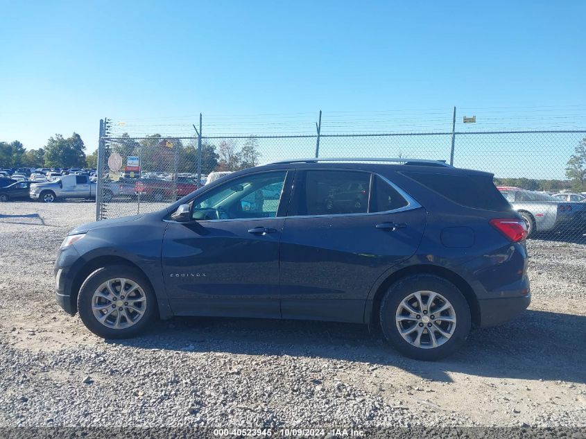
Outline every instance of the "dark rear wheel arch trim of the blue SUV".
<path id="1" fill-rule="evenodd" d="M 454 273 L 454 271 L 449 270 L 448 268 L 428 264 L 418 264 L 402 268 L 384 279 L 377 291 L 374 293 L 370 303 L 367 303 L 366 305 L 364 313 L 365 322 L 368 323 L 371 328 L 377 327 L 379 322 L 379 309 L 381 306 L 381 300 L 391 285 L 404 277 L 423 274 L 436 275 L 454 284 L 462 292 L 466 302 L 468 303 L 472 322 L 474 325 L 479 325 L 481 318 L 480 306 L 478 299 L 476 298 L 476 294 L 474 294 L 474 291 L 472 290 L 472 286 L 470 286 L 470 284 L 466 282 L 463 277 L 458 275 L 458 273 Z"/>

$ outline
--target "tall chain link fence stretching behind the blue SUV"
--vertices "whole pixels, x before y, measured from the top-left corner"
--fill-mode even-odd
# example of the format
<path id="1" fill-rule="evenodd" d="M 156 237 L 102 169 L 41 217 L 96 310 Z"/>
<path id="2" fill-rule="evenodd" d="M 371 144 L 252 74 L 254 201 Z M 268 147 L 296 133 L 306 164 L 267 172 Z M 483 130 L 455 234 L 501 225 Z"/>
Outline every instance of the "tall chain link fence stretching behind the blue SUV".
<path id="1" fill-rule="evenodd" d="M 202 135 L 200 125 L 173 135 L 146 124 L 135 135 L 125 128 L 109 119 L 101 122 L 98 220 L 162 209 L 225 172 L 277 160 L 406 157 L 494 173 L 495 184 L 513 207 L 525 212 L 533 230 L 546 232 L 540 237 L 586 239 L 586 193 L 580 193 L 586 192 L 585 176 L 580 178 L 586 157 L 579 157 L 586 130 L 456 130 L 455 117 L 452 130 L 437 132 L 320 134 L 318 126 L 316 135 L 214 136 Z M 577 162 L 572 164 L 571 157 L 578 157 Z M 553 223 L 544 221 L 551 219 L 551 206 Z"/>

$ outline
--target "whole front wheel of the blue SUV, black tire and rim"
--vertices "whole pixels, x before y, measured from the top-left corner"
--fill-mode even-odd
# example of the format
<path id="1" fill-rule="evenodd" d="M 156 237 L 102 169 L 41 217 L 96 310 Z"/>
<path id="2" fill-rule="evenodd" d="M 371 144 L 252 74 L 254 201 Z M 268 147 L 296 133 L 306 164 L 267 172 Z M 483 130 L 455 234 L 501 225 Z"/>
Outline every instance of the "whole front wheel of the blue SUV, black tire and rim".
<path id="1" fill-rule="evenodd" d="M 122 280 L 128 297 L 120 291 Z M 106 266 L 89 275 L 81 286 L 77 304 L 87 329 L 103 338 L 136 336 L 153 321 L 157 308 L 148 279 L 136 268 L 125 265 Z"/>

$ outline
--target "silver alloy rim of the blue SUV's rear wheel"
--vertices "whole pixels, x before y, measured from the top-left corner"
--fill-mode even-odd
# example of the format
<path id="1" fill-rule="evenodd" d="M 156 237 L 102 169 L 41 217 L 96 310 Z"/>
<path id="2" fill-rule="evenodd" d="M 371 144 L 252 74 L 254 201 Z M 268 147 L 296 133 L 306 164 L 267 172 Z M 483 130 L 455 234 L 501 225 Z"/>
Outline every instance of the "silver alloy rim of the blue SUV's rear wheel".
<path id="1" fill-rule="evenodd" d="M 399 303 L 395 312 L 399 334 L 422 349 L 446 343 L 456 330 L 454 306 L 435 291 L 416 291 Z"/>

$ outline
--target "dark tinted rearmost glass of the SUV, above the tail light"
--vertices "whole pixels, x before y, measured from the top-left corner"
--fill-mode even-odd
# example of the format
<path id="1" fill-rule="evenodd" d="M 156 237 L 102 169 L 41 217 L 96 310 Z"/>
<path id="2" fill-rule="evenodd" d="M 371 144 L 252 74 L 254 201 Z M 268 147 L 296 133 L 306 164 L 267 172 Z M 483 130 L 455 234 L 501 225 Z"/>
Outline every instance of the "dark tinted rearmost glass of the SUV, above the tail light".
<path id="1" fill-rule="evenodd" d="M 510 210 L 510 204 L 494 186 L 491 175 L 422 172 L 404 172 L 404 175 L 459 205 L 483 210 Z"/>

